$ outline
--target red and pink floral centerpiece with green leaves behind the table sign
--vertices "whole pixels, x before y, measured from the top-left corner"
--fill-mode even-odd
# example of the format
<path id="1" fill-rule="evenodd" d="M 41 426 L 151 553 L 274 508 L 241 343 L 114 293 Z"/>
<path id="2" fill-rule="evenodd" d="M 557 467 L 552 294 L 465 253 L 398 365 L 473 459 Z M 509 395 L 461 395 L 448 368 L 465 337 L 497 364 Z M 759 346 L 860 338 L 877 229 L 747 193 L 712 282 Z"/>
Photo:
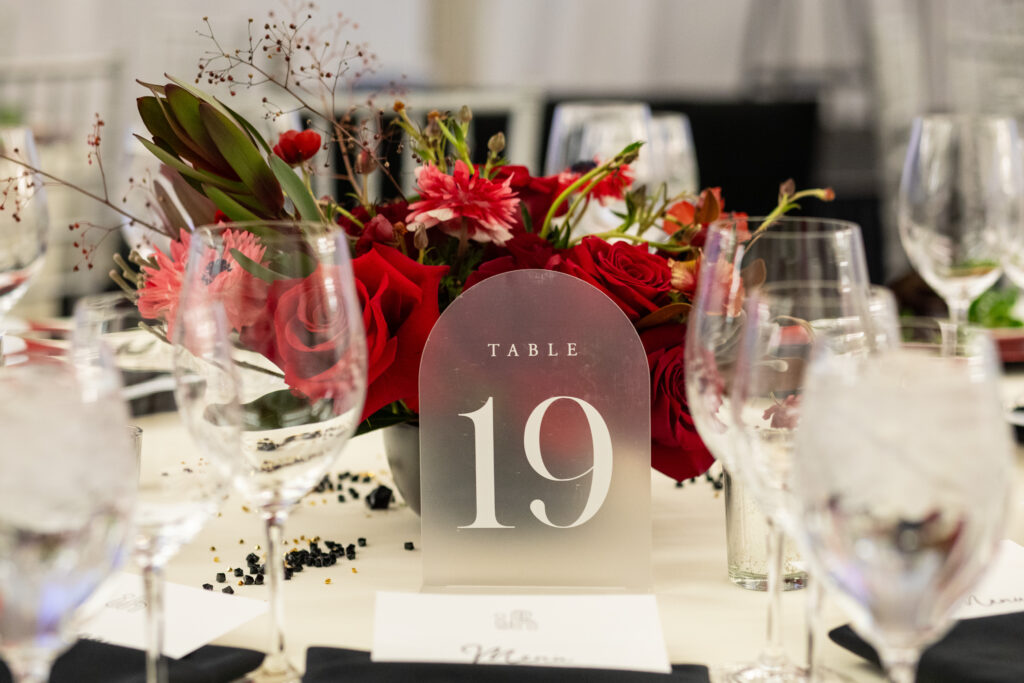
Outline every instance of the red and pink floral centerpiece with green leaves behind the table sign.
<path id="1" fill-rule="evenodd" d="M 266 282 L 261 307 L 229 311 L 228 318 L 251 348 L 286 366 L 282 370 L 293 398 L 312 407 L 321 398 L 316 375 L 330 370 L 315 356 L 315 329 L 306 326 L 304 334 L 313 338 L 306 347 L 284 341 L 295 338 L 288 328 L 302 318 L 288 296 L 301 273 L 283 272 L 259 231 L 245 225 L 302 220 L 340 226 L 349 236 L 366 327 L 369 385 L 359 429 L 368 431 L 417 420 L 423 346 L 440 312 L 459 294 L 501 272 L 559 270 L 604 292 L 636 327 L 651 374 L 653 467 L 677 480 L 705 472 L 713 459 L 687 408 L 683 353 L 703 237 L 723 211 L 720 189 L 672 196 L 664 185 L 637 185 L 632 165 L 643 154 L 640 142 L 611 159 L 541 177 L 503 156 L 505 138 L 499 133 L 474 161 L 467 108 L 430 112 L 420 124 L 395 100 L 390 128 L 400 130 L 420 165 L 414 196 L 381 202 L 370 196 L 367 178 L 374 172 L 390 177 L 379 154 L 388 131 L 368 134 L 366 124 L 357 122 L 379 122 L 385 110 L 371 106 L 361 116 L 355 108 L 336 111 L 338 74 L 352 63 L 368 69 L 366 48 L 346 43 L 330 68 L 324 56 L 330 43 L 304 34 L 305 26 L 271 18 L 259 31 L 250 20 L 249 46 L 233 52 L 218 46 L 200 61 L 196 79 L 224 86 L 229 96 L 243 87 L 276 87 L 278 95 L 290 97 L 309 117 L 304 130 L 268 141 L 253 122 L 196 83 L 142 84 L 148 92 L 138 98 L 138 112 L 148 136 L 137 137 L 163 164 L 177 201 L 151 185 L 157 219 L 143 219 L 109 197 L 97 198 L 128 222 L 170 241 L 169 248 L 116 259 L 119 270 L 112 276 L 140 311 L 173 323 L 190 230 L 223 223 L 228 237 L 223 253 L 210 258 L 210 284 L 227 288 L 238 278 Z M 312 95 L 317 89 L 318 101 Z M 271 118 L 283 114 L 267 97 L 263 102 Z M 97 119 L 90 138 L 92 161 L 100 168 L 101 125 Z M 350 191 L 317 197 L 312 176 L 332 143 Z M 9 151 L 0 156 L 17 160 Z M 805 197 L 828 199 L 830 190 L 798 193 L 792 182 L 783 183 L 773 215 Z M 617 226 L 577 234 L 589 207 L 609 204 Z M 240 227 L 232 231 L 236 223 Z M 72 229 L 95 227 L 75 224 Z M 82 249 L 88 257 L 90 248 Z"/>

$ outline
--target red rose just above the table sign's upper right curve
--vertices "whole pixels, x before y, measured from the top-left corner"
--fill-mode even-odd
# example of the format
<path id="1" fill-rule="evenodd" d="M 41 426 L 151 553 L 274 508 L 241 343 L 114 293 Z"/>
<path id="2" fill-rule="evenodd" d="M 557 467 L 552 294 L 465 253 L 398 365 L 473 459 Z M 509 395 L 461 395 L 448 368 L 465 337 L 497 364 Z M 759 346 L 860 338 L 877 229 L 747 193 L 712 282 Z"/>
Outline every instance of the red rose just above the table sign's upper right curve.
<path id="1" fill-rule="evenodd" d="M 669 264 L 648 252 L 646 245 L 584 238 L 575 247 L 553 257 L 548 268 L 595 286 L 633 322 L 669 303 Z"/>

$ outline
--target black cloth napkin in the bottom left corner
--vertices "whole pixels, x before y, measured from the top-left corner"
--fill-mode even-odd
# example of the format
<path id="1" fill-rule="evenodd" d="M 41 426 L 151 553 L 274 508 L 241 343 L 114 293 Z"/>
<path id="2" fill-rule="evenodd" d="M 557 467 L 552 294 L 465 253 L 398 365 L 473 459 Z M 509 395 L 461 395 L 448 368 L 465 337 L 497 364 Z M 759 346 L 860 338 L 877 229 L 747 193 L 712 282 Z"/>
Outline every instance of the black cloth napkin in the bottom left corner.
<path id="1" fill-rule="evenodd" d="M 262 660 L 262 652 L 207 645 L 180 659 L 169 659 L 168 678 L 171 683 L 228 683 Z M 10 672 L 3 664 L 0 664 L 0 683 L 11 683 Z M 57 658 L 50 683 L 145 683 L 145 653 L 80 640 Z"/>

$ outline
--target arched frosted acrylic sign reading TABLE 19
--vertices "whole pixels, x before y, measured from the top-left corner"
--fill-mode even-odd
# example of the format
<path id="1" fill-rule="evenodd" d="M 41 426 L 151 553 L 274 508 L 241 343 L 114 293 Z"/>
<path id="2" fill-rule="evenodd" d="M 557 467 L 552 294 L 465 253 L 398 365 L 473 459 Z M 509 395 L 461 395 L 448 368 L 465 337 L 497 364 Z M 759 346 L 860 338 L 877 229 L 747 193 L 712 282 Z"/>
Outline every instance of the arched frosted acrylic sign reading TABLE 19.
<path id="1" fill-rule="evenodd" d="M 517 270 L 460 296 L 420 365 L 425 587 L 648 591 L 649 404 L 600 290 Z"/>

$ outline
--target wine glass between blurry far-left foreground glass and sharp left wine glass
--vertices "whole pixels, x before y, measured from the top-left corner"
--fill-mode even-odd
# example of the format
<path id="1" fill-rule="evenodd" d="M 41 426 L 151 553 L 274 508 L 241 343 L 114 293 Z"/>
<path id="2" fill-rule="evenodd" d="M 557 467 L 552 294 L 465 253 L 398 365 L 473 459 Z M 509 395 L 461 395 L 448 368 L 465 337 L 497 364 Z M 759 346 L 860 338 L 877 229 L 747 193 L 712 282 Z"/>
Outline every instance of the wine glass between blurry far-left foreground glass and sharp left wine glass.
<path id="1" fill-rule="evenodd" d="M 160 683 L 167 680 L 164 567 L 217 512 L 226 472 L 194 452 L 171 453 L 142 440 L 151 425 L 179 421 L 172 347 L 160 321 L 143 317 L 121 293 L 83 297 L 75 308 L 73 347 L 91 358 L 110 350 L 130 408 L 140 457 L 133 550 L 145 591 L 146 682 Z"/>

